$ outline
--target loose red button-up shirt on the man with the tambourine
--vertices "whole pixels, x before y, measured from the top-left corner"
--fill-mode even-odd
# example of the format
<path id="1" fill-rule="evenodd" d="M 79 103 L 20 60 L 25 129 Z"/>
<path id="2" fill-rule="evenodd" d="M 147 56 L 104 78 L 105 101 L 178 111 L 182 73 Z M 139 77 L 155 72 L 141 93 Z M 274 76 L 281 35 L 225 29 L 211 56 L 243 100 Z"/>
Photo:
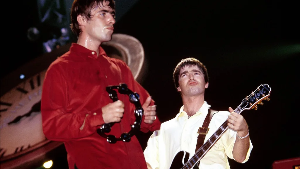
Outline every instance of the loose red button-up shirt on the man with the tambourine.
<path id="1" fill-rule="evenodd" d="M 120 83 L 140 94 L 143 105 L 148 92 L 134 80 L 125 62 L 107 57 L 101 47 L 97 57 L 96 51 L 73 43 L 67 53 L 49 66 L 41 98 L 43 131 L 47 139 L 64 142 L 70 168 L 74 162 L 79 169 L 147 168 L 135 136 L 128 143 L 110 144 L 96 132 L 104 124 L 101 108 L 113 102 L 105 87 Z M 117 94 L 125 104 L 125 112 L 121 122 L 115 123 L 107 134 L 120 137 L 131 130 L 136 118 L 128 95 Z M 158 118 L 153 124 L 146 124 L 143 119 L 141 131 L 158 130 L 160 124 Z"/>

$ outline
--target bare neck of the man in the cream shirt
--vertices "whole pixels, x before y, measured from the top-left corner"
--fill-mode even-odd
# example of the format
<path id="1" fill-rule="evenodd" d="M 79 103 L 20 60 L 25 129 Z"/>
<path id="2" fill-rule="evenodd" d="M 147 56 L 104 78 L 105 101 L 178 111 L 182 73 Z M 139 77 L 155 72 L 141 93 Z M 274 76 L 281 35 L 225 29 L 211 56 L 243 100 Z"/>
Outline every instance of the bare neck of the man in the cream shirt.
<path id="1" fill-rule="evenodd" d="M 185 111 L 188 116 L 192 116 L 202 107 L 204 103 L 204 96 L 182 96 L 182 101 L 184 105 L 183 111 Z"/>

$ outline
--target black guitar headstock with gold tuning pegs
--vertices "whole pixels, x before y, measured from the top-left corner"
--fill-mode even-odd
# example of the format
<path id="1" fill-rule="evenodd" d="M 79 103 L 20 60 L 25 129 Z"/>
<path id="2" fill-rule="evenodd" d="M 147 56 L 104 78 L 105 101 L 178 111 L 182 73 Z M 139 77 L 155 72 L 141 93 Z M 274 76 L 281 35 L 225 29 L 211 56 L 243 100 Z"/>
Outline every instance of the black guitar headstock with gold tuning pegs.
<path id="1" fill-rule="evenodd" d="M 269 101 L 271 88 L 268 84 L 261 84 L 255 91 L 242 100 L 242 103 L 238 106 L 241 110 L 255 109 L 257 110 L 257 104 L 263 105 L 262 101 Z"/>

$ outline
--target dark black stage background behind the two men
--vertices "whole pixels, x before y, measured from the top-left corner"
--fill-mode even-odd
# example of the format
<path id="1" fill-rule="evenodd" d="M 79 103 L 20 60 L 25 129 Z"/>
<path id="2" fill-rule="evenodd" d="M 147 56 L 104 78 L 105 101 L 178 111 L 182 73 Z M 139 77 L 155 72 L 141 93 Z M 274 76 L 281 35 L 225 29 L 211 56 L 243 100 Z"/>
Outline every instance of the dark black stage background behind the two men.
<path id="1" fill-rule="evenodd" d="M 116 1 L 116 4 L 124 1 Z M 8 3 L 8 2 L 6 2 Z M 27 29 L 39 22 L 36 2 L 20 2 L 1 13 L 1 78 L 40 56 L 42 38 L 29 41 Z M 271 100 L 242 112 L 253 150 L 249 161 L 230 161 L 232 169 L 267 168 L 276 160 L 300 157 L 298 63 L 299 10 L 292 1 L 137 1 L 117 13 L 115 33 L 141 41 L 148 69 L 141 84 L 157 104 L 159 119 L 173 118 L 182 106 L 173 85 L 177 63 L 195 57 L 207 66 L 205 100 L 212 108 L 236 108 L 260 84 L 269 84 Z M 118 9 L 119 8 L 119 9 Z M 117 6 L 116 11 L 122 6 Z M 1 8 L 3 9 L 3 8 Z M 3 10 L 2 10 L 3 11 Z M 57 28 L 41 28 L 43 38 Z M 151 133 L 138 134 L 143 149 Z M 63 146 L 48 154 L 67 168 Z"/>

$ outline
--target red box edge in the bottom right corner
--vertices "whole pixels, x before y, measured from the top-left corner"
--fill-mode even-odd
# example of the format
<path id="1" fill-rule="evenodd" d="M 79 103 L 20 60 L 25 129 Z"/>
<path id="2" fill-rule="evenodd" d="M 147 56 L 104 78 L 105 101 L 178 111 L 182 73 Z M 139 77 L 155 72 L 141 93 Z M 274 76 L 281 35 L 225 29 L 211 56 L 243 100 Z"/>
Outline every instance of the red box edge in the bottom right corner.
<path id="1" fill-rule="evenodd" d="M 274 161 L 272 169 L 300 169 L 300 157 Z"/>

